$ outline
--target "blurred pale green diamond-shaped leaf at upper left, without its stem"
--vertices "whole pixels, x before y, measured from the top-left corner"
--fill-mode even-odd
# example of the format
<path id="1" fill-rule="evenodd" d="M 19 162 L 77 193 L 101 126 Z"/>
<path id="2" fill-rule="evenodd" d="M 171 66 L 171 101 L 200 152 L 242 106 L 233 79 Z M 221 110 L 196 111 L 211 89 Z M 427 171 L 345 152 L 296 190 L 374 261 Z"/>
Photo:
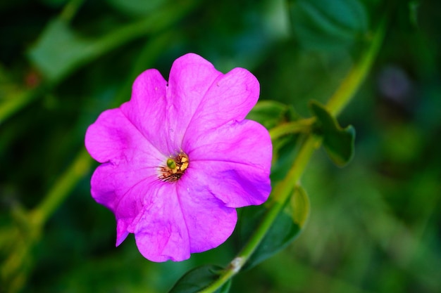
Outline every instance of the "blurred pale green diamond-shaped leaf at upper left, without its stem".
<path id="1" fill-rule="evenodd" d="M 66 22 L 56 18 L 49 22 L 28 56 L 46 79 L 56 81 L 80 63 L 91 44 L 70 30 Z"/>

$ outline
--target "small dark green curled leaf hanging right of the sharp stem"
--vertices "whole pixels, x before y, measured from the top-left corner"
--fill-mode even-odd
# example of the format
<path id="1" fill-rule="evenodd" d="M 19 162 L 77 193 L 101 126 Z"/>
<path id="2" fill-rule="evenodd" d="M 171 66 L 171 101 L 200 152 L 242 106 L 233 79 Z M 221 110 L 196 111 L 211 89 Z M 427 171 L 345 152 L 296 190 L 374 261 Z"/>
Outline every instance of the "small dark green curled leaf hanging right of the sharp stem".
<path id="1" fill-rule="evenodd" d="M 323 136 L 323 148 L 337 166 L 343 167 L 354 156 L 355 129 L 351 125 L 342 129 L 325 106 L 311 101 L 309 107 L 316 116 L 316 133 Z"/>

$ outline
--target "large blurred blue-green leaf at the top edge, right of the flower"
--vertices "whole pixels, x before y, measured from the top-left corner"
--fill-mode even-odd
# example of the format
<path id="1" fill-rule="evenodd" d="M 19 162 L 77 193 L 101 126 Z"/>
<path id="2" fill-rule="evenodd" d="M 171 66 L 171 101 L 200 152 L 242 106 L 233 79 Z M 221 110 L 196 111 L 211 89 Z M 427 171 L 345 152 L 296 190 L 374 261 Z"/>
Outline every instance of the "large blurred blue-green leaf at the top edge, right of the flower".
<path id="1" fill-rule="evenodd" d="M 358 0 L 289 2 L 292 30 L 306 48 L 348 46 L 368 30 L 366 8 Z"/>

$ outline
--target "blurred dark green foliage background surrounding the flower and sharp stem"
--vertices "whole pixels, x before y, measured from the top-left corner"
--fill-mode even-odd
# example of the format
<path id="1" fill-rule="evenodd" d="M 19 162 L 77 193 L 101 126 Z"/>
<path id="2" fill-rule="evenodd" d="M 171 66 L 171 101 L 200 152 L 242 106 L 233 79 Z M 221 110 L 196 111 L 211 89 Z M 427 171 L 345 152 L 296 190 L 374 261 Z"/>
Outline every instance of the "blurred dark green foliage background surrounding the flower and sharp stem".
<path id="1" fill-rule="evenodd" d="M 87 126 L 137 74 L 167 78 L 187 52 L 246 67 L 261 100 L 308 117 L 383 17 L 380 53 L 339 117 L 357 131 L 353 161 L 316 152 L 302 235 L 231 292 L 441 292 L 440 16 L 437 0 L 1 1 L 0 292 L 167 292 L 194 266 L 225 266 L 234 235 L 181 263 L 147 261 L 132 236 L 114 247 L 113 214 L 89 194 Z"/>

